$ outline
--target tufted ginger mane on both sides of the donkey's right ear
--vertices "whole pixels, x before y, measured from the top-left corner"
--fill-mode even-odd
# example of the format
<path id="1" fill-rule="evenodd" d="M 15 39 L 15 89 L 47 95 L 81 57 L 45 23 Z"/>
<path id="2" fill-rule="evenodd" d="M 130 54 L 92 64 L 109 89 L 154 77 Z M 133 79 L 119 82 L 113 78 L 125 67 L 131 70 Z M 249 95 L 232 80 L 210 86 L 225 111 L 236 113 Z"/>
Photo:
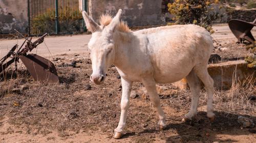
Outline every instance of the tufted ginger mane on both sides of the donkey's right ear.
<path id="1" fill-rule="evenodd" d="M 99 18 L 99 23 L 102 27 L 107 26 L 112 21 L 113 17 L 109 13 L 101 14 Z M 124 33 L 130 33 L 131 30 L 128 27 L 127 23 L 121 20 L 120 24 L 117 25 L 117 30 Z"/>

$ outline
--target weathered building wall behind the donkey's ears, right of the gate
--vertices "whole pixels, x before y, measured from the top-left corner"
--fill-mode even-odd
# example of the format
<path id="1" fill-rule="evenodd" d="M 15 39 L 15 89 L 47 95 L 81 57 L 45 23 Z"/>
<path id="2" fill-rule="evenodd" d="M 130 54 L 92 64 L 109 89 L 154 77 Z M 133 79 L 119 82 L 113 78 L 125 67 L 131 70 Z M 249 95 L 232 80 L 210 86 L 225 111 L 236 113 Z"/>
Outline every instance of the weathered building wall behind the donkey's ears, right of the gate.
<path id="1" fill-rule="evenodd" d="M 161 12 L 162 1 L 156 0 L 89 0 L 89 15 L 98 20 L 102 13 L 115 15 L 123 10 L 122 19 L 129 26 L 157 25 L 165 22 Z"/>

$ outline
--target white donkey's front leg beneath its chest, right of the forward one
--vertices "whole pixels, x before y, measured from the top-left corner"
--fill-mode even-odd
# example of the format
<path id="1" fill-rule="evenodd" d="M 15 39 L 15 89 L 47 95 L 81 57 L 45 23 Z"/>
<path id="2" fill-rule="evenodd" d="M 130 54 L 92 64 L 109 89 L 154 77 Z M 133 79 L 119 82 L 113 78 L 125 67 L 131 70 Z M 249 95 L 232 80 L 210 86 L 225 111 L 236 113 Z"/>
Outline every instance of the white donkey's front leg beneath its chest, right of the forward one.
<path id="1" fill-rule="evenodd" d="M 144 84 L 148 95 L 150 96 L 151 103 L 156 108 L 157 113 L 159 115 L 159 122 L 158 122 L 158 130 L 162 130 L 166 127 L 166 121 L 165 121 L 165 114 L 163 112 L 163 109 L 160 105 L 160 98 L 157 94 L 156 90 L 156 82 L 154 79 L 144 79 L 142 81 Z"/>

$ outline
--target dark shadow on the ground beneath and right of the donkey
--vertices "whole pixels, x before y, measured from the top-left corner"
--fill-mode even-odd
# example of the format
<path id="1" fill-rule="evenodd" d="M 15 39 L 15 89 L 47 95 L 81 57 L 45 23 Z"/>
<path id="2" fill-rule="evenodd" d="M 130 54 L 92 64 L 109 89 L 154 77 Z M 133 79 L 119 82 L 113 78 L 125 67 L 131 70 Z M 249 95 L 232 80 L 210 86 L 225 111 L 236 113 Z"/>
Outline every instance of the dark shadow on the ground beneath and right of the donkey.
<path id="1" fill-rule="evenodd" d="M 243 116 L 251 119 L 254 123 L 256 121 L 255 116 L 241 115 L 228 113 L 223 111 L 215 111 L 216 119 L 214 122 L 210 122 L 206 117 L 206 112 L 199 111 L 197 117 L 193 121 L 172 123 L 168 121 L 167 127 L 164 131 L 166 135 L 166 142 L 237 142 L 233 139 L 221 139 L 217 135 L 249 135 L 256 133 L 256 127 L 241 129 L 238 123 L 238 117 Z M 174 117 L 175 118 L 175 117 Z M 177 117 L 178 118 L 178 117 Z M 176 121 L 175 121 L 176 122 Z M 176 130 L 178 135 L 168 135 L 173 130 Z M 155 134 L 158 131 L 156 129 L 145 129 L 139 134 Z M 173 133 L 171 133 L 173 134 Z M 134 136 L 134 132 L 126 133 L 124 138 Z"/>

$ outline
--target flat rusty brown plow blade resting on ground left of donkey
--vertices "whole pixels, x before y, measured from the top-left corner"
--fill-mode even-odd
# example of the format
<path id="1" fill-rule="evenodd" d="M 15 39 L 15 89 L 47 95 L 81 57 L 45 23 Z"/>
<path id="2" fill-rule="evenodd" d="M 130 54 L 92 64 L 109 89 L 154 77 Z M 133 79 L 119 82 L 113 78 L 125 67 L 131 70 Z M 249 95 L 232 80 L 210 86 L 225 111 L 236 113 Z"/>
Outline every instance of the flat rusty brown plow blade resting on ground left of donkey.
<path id="1" fill-rule="evenodd" d="M 59 82 L 56 68 L 51 61 L 37 54 L 20 55 L 19 58 L 36 81 Z"/>

